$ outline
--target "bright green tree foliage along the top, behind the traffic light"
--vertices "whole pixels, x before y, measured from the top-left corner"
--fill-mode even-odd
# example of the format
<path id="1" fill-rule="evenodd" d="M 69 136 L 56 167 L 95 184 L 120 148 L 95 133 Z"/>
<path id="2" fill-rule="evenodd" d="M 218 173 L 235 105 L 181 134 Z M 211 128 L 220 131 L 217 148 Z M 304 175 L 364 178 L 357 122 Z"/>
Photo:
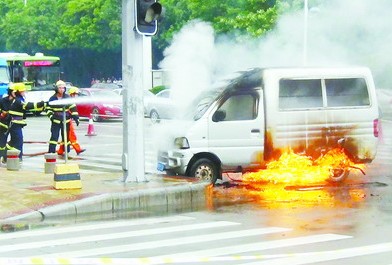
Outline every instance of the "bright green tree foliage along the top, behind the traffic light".
<path id="1" fill-rule="evenodd" d="M 131 0 L 129 0 L 131 1 Z M 210 22 L 216 34 L 258 37 L 278 14 L 304 0 L 160 0 L 165 8 L 156 46 L 163 50 L 186 23 Z M 121 51 L 122 0 L 0 0 L 0 48 Z"/>

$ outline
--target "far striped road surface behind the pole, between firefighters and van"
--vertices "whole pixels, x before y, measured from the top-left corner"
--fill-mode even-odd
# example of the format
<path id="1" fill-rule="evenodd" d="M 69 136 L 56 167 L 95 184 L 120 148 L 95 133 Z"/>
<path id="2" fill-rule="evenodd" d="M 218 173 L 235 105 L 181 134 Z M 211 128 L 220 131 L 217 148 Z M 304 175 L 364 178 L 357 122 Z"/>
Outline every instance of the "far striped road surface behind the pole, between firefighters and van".
<path id="1" fill-rule="evenodd" d="M 44 153 L 48 150 L 48 140 L 50 138 L 50 121 L 47 117 L 28 117 L 28 125 L 24 128 L 24 158 L 22 167 L 33 170 L 44 170 Z M 148 129 L 152 125 L 146 119 L 145 127 Z M 123 153 L 122 141 L 122 121 L 113 120 L 105 122 L 94 122 L 90 125 L 95 132 L 95 136 L 86 136 L 89 132 L 88 120 L 82 120 L 76 127 L 76 134 L 79 143 L 86 151 L 81 155 L 76 155 L 71 150 L 69 157 L 77 160 L 81 173 L 99 172 L 121 172 Z M 146 129 L 146 132 L 147 132 Z M 147 173 L 156 171 L 156 150 L 151 134 L 146 133 L 145 138 L 145 168 Z"/>

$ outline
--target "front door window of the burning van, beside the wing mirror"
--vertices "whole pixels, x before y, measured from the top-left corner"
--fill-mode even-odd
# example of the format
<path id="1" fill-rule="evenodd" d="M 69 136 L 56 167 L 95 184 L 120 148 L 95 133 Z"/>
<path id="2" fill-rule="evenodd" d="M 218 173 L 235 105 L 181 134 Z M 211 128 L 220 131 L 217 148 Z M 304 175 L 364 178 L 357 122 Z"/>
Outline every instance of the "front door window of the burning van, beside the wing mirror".
<path id="1" fill-rule="evenodd" d="M 257 116 L 257 96 L 239 94 L 230 96 L 216 112 L 224 113 L 219 121 L 253 120 Z"/>

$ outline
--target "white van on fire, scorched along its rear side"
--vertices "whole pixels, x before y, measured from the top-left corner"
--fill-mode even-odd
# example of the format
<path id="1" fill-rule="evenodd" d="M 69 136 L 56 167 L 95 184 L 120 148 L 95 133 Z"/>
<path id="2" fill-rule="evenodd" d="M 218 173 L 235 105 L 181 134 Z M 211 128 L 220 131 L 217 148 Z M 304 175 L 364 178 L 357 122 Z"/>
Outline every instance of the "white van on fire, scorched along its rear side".
<path id="1" fill-rule="evenodd" d="M 252 69 L 195 102 L 193 122 L 175 147 L 159 152 L 158 170 L 207 179 L 246 172 L 290 147 L 314 158 L 343 147 L 370 163 L 379 113 L 368 68 Z M 333 181 L 349 170 L 336 169 Z"/>

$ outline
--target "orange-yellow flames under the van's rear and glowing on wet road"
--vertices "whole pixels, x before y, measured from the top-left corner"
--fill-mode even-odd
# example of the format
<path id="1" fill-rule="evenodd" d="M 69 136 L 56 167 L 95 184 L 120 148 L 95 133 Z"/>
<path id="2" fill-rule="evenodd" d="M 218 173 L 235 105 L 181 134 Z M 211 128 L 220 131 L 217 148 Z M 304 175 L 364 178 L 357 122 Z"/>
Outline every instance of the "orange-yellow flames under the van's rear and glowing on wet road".
<path id="1" fill-rule="evenodd" d="M 342 148 L 332 149 L 312 159 L 295 154 L 291 149 L 282 153 L 266 169 L 245 173 L 235 189 L 216 190 L 215 199 L 230 198 L 236 203 L 257 202 L 267 209 L 296 209 L 313 207 L 355 207 L 366 199 L 366 192 L 355 182 L 348 185 L 327 183 L 336 169 L 364 170 L 364 164 L 355 164 Z"/>

